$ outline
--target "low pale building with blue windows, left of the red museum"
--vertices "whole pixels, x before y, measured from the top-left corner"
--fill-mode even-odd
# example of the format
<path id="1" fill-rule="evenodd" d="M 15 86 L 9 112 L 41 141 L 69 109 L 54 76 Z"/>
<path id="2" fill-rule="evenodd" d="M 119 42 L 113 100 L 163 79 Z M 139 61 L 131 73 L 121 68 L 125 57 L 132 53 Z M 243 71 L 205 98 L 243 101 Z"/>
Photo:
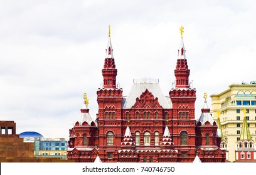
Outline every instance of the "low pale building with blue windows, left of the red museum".
<path id="1" fill-rule="evenodd" d="M 35 157 L 67 159 L 68 143 L 64 138 L 36 138 Z"/>

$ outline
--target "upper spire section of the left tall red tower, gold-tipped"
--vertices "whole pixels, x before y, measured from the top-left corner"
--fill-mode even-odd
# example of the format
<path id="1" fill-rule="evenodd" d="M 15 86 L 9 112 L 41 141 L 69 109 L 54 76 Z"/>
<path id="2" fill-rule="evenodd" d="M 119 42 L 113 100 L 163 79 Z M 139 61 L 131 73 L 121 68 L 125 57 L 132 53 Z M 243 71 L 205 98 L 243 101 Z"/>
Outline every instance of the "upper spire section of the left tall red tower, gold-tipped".
<path id="1" fill-rule="evenodd" d="M 110 26 L 109 26 L 109 40 L 107 42 L 106 58 L 104 68 L 102 69 L 103 76 L 103 88 L 116 89 L 116 76 L 117 69 L 115 69 L 115 59 L 113 57 L 113 48 L 110 38 Z"/>

